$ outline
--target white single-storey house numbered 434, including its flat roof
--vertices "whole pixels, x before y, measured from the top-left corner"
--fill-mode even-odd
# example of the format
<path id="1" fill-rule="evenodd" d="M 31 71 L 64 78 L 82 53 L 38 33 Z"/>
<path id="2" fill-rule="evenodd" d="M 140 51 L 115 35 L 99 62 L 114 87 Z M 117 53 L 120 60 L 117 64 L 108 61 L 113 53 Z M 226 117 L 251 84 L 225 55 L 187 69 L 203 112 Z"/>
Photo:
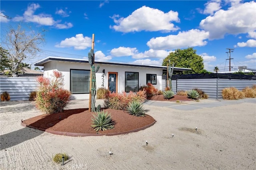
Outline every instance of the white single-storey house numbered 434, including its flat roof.
<path id="1" fill-rule="evenodd" d="M 47 57 L 34 64 L 44 67 L 44 77 L 50 77 L 54 70 L 64 75 L 64 88 L 72 93 L 72 99 L 89 99 L 90 64 L 88 59 Z M 96 89 L 104 87 L 112 92 L 138 91 L 140 86 L 152 83 L 158 90 L 164 90 L 162 81 L 166 66 L 137 63 L 112 63 L 95 61 L 100 66 L 96 73 Z M 175 72 L 189 71 L 189 68 L 174 67 Z"/>

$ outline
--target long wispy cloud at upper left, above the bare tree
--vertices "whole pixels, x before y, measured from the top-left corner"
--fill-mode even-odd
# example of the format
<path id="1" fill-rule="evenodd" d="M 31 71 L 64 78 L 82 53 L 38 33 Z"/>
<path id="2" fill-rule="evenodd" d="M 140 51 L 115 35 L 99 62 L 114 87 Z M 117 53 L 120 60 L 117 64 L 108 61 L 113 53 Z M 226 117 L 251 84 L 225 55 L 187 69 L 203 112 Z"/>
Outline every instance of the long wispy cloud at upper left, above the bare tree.
<path id="1" fill-rule="evenodd" d="M 35 11 L 40 8 L 39 4 L 31 4 L 24 12 L 23 16 L 16 16 L 13 21 L 20 22 L 34 22 L 43 26 L 55 26 L 56 28 L 71 28 L 71 23 L 59 24 L 61 20 L 55 21 L 50 14 L 38 14 L 35 15 Z"/>

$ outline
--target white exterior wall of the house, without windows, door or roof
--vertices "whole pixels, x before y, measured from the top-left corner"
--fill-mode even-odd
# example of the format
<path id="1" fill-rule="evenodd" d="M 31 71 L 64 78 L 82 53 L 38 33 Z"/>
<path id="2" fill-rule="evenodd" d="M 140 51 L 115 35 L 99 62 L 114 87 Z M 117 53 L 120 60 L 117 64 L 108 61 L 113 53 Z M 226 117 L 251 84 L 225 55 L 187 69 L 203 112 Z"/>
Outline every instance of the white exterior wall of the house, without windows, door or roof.
<path id="1" fill-rule="evenodd" d="M 117 72 L 117 89 L 118 93 L 125 91 L 125 72 L 138 72 L 139 73 L 139 87 L 146 85 L 146 74 L 156 74 L 157 83 L 154 85 L 158 90 L 161 90 L 162 86 L 162 69 L 150 68 L 150 67 L 134 67 L 124 65 L 109 65 L 109 64 L 95 64 L 95 67 L 100 65 L 98 73 L 96 73 L 96 88 L 102 87 L 108 88 L 108 72 Z M 44 64 L 44 76 L 50 77 L 54 69 L 61 71 L 64 75 L 64 88 L 70 90 L 70 69 L 83 69 L 90 70 L 89 63 L 76 63 L 67 61 L 50 61 Z M 103 69 L 104 82 L 103 82 Z M 72 99 L 89 99 L 89 94 L 73 94 Z"/>

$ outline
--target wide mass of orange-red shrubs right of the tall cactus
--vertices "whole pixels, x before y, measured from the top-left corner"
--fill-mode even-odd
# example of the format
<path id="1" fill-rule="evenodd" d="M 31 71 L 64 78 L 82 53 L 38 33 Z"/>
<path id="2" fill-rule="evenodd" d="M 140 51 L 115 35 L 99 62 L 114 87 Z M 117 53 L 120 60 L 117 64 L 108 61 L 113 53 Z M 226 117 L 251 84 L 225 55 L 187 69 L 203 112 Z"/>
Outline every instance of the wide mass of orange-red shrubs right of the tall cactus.
<path id="1" fill-rule="evenodd" d="M 104 100 L 104 106 L 110 109 L 126 110 L 129 103 L 133 101 L 144 102 L 146 99 L 146 90 L 140 90 L 136 93 L 108 93 Z"/>

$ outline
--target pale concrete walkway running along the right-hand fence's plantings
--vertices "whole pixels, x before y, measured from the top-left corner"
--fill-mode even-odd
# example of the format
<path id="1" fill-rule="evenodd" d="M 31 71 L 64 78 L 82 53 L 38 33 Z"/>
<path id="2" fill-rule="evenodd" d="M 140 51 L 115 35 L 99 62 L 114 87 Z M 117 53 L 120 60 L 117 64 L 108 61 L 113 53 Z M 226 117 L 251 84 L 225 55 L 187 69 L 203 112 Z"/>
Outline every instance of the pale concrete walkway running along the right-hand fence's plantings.
<path id="1" fill-rule="evenodd" d="M 212 108 L 218 106 L 226 106 L 226 105 L 235 105 L 239 103 L 255 103 L 255 98 L 246 98 L 239 100 L 214 100 L 214 99 L 203 99 L 199 101 L 183 101 L 180 103 L 171 102 L 171 101 L 153 101 L 146 100 L 144 105 L 153 105 L 159 107 L 170 107 L 172 109 L 184 110 L 184 111 L 192 111 L 196 109 L 202 108 Z"/>

